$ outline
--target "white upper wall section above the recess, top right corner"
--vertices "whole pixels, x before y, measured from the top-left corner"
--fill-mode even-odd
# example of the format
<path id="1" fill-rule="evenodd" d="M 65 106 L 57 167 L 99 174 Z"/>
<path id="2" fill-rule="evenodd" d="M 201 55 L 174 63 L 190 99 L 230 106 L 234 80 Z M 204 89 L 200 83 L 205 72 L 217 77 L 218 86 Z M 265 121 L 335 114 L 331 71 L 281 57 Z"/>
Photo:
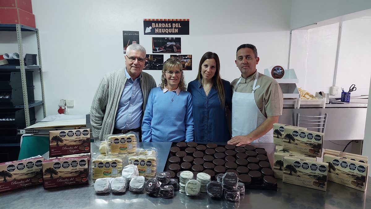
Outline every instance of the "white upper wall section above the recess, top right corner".
<path id="1" fill-rule="evenodd" d="M 370 8 L 370 0 L 292 0 L 290 29 Z"/>

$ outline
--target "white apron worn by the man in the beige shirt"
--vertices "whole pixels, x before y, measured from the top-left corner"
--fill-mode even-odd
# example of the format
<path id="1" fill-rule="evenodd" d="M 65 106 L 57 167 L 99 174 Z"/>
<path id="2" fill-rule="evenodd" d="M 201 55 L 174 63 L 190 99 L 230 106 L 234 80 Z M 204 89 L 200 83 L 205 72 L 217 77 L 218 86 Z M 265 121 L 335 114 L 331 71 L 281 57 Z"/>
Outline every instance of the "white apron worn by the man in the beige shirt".
<path id="1" fill-rule="evenodd" d="M 260 85 L 256 86 L 258 77 L 259 73 L 256 72 L 251 93 L 236 92 L 241 78 L 234 87 L 235 90 L 232 97 L 232 136 L 250 134 L 250 132 L 255 130 L 267 119 L 262 112 L 260 112 L 255 102 L 254 93 L 255 90 L 260 87 Z M 273 142 L 273 129 L 253 142 Z"/>

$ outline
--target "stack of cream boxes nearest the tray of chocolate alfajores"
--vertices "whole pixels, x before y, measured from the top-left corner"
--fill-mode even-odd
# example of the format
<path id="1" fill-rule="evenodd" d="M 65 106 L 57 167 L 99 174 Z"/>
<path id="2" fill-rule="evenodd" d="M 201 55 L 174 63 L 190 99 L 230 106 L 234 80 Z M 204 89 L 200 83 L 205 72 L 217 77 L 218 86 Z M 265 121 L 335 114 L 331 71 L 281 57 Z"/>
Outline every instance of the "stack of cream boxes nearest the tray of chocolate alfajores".
<path id="1" fill-rule="evenodd" d="M 316 157 L 321 157 L 323 133 L 275 123 L 273 139 L 278 145 L 273 164 L 277 178 L 326 191 L 328 164 L 316 161 Z"/>

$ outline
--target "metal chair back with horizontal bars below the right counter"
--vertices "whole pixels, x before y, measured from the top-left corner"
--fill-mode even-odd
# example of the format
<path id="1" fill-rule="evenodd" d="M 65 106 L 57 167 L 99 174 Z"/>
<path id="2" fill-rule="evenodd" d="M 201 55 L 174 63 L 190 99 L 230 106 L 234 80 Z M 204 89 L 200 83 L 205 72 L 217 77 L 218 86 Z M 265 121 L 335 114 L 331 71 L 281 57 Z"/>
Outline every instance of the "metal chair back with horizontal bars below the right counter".
<path id="1" fill-rule="evenodd" d="M 327 113 L 325 113 L 325 115 L 320 116 L 307 116 L 300 115 L 300 113 L 296 113 L 296 126 L 307 128 L 309 131 L 325 133 L 326 120 Z"/>

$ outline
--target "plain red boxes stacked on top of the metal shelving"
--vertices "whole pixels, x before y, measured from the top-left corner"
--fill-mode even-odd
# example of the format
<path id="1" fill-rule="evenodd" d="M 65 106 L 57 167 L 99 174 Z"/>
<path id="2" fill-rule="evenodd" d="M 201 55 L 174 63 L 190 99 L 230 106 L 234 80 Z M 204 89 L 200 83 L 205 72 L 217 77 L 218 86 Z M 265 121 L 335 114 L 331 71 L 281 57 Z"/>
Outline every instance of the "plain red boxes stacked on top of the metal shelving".
<path id="1" fill-rule="evenodd" d="M 21 24 L 36 28 L 31 0 L 1 0 L 0 24 Z"/>

